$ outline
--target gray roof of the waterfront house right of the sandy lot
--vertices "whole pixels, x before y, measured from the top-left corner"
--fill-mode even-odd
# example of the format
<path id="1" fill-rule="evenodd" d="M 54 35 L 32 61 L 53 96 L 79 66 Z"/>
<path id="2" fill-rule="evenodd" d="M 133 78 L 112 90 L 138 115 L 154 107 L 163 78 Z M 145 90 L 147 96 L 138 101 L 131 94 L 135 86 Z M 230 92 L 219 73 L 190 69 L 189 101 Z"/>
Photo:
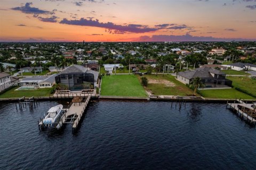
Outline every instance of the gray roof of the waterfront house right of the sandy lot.
<path id="1" fill-rule="evenodd" d="M 201 67 L 198 68 L 196 70 L 193 71 L 183 71 L 183 72 L 179 72 L 178 75 L 180 75 L 181 77 L 184 77 L 186 79 L 193 79 L 196 77 L 199 78 L 213 78 L 211 73 L 214 74 L 225 74 L 219 70 L 215 70 L 215 69 L 211 69 L 209 67 Z"/>

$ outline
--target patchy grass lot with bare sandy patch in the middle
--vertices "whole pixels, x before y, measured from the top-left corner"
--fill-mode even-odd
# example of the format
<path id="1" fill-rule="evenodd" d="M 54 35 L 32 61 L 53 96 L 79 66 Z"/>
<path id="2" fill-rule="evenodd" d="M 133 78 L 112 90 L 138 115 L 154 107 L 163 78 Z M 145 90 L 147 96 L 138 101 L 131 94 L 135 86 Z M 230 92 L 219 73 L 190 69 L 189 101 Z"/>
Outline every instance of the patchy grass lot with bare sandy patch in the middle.
<path id="1" fill-rule="evenodd" d="M 164 76 L 162 74 L 156 75 L 145 75 L 148 80 L 158 80 L 163 81 L 167 80 L 171 84 L 166 83 L 149 83 L 148 87 L 146 87 L 146 90 L 151 91 L 153 95 L 175 95 L 175 96 L 188 96 L 193 95 L 193 90 L 189 89 L 185 84 L 179 82 L 175 79 L 172 75 L 165 74 Z"/>

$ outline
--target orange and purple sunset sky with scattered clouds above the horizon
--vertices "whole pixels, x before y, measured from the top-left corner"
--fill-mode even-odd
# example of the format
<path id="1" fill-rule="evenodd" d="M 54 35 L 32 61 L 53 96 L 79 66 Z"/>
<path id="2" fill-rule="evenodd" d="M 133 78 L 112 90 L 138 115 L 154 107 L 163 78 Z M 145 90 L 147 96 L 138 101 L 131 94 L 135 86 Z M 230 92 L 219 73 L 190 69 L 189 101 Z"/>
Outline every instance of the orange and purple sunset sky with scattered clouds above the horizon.
<path id="1" fill-rule="evenodd" d="M 0 0 L 0 41 L 256 40 L 256 0 Z"/>

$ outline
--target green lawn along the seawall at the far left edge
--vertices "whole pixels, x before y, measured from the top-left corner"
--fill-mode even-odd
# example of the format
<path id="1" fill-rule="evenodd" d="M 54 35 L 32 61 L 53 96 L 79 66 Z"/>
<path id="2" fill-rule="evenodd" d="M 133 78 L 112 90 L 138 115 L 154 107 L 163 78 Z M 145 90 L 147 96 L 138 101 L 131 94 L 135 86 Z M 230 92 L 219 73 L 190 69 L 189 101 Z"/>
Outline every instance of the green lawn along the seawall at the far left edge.
<path id="1" fill-rule="evenodd" d="M 42 89 L 36 89 L 36 90 L 16 90 L 19 87 L 14 87 L 6 92 L 4 92 L 2 95 L 0 95 L 0 98 L 19 98 L 19 97 L 32 97 L 32 96 L 50 96 L 51 88 L 42 88 Z"/>

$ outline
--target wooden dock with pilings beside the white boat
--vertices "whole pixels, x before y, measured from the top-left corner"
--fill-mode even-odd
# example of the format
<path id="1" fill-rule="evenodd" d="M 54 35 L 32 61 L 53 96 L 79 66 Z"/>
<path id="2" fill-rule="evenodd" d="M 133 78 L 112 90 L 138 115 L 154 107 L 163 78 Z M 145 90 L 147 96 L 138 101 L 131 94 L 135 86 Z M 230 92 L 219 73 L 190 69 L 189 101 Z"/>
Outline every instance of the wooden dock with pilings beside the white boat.
<path id="1" fill-rule="evenodd" d="M 54 123 L 53 128 L 61 129 L 63 124 L 71 123 L 72 129 L 76 130 L 79 121 L 81 121 L 84 111 L 91 99 L 92 95 L 88 95 L 85 99 L 79 96 L 77 98 L 73 98 L 71 104 L 69 106 L 63 107 L 63 114 L 58 118 L 57 122 Z M 76 100 L 78 99 L 78 100 Z M 41 118 L 38 121 L 39 129 L 44 128 L 43 119 Z"/>

